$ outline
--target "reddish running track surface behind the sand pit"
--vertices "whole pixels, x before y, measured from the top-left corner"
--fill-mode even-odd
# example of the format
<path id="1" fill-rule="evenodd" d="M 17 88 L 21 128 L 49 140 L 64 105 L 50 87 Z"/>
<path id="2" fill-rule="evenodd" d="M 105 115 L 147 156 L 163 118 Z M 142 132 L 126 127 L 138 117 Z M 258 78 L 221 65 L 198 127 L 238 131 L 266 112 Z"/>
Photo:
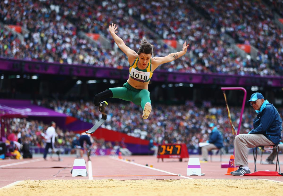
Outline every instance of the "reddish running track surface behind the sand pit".
<path id="1" fill-rule="evenodd" d="M 40 155 L 33 159 L 5 159 L 0 160 L 0 188 L 11 184 L 18 180 L 52 180 L 52 179 L 89 179 L 89 177 L 72 177 L 70 170 L 72 169 L 74 156 L 63 156 L 62 161 L 57 159 L 49 159 L 45 161 Z M 191 158 L 200 158 L 200 155 L 191 155 Z M 263 155 L 263 160 L 267 155 Z M 198 179 L 269 179 L 283 182 L 283 177 L 280 176 L 231 176 L 224 175 L 227 173 L 226 168 L 221 168 L 221 163 L 228 163 L 230 155 L 223 155 L 222 162 L 220 162 L 219 155 L 213 156 L 213 161 L 201 163 L 201 172 L 204 176 L 186 176 L 188 158 L 179 162 L 178 159 L 164 159 L 164 162 L 157 162 L 155 156 L 129 156 L 123 157 L 130 162 L 113 159 L 110 156 L 96 156 L 91 157 L 93 179 L 118 179 L 118 180 L 143 180 L 143 179 L 185 179 L 182 176 Z M 249 167 L 254 171 L 254 162 L 252 154 L 248 156 Z M 283 160 L 283 155 L 280 155 L 279 160 Z M 85 157 L 87 161 L 87 158 Z M 131 164 L 134 163 L 134 164 Z M 146 164 L 153 165 L 150 167 L 142 167 Z M 88 171 L 88 162 L 86 162 Z M 261 165 L 258 161 L 257 171 L 275 171 L 275 165 Z M 283 170 L 283 168 L 282 168 Z M 166 172 L 170 172 L 169 174 Z M 283 172 L 283 171 L 282 171 Z M 170 176 L 173 174 L 181 174 L 182 176 Z M 143 176 L 142 176 L 143 175 Z M 148 175 L 148 176 L 145 176 Z M 169 176 L 168 176 L 169 175 Z"/>

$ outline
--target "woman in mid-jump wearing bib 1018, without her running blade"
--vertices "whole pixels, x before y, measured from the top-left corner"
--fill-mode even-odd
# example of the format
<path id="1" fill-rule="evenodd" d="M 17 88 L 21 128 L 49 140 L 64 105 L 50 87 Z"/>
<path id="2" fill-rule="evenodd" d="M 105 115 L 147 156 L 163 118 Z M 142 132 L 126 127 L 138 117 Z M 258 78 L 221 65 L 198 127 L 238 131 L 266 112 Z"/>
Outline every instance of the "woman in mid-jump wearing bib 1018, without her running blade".
<path id="1" fill-rule="evenodd" d="M 153 71 L 161 64 L 168 63 L 183 56 L 189 44 L 183 44 L 183 50 L 176 53 L 171 53 L 165 57 L 152 57 L 153 46 L 147 42 L 145 38 L 140 43 L 138 53 L 131 50 L 124 41 L 116 35 L 118 31 L 116 24 L 109 25 L 109 32 L 112 35 L 118 47 L 128 56 L 130 63 L 129 79 L 123 87 L 109 88 L 106 91 L 95 95 L 94 104 L 100 105 L 102 99 L 112 97 L 132 101 L 136 105 L 141 105 L 143 108 L 142 118 L 147 119 L 151 112 L 150 93 L 147 90 L 149 80 L 152 77 Z"/>

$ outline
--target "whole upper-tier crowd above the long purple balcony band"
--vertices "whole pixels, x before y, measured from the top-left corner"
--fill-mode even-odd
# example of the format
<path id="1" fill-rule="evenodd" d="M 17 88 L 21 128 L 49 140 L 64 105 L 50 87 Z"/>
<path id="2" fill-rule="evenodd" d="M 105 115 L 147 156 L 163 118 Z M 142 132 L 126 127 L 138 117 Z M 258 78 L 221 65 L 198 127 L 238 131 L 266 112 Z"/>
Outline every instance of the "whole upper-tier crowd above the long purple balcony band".
<path id="1" fill-rule="evenodd" d="M 198 1 L 194 3 L 198 4 Z M 201 5 L 206 8 L 207 4 L 204 1 Z M 261 10 L 259 5 L 247 3 L 247 6 L 251 5 Z M 149 7 L 151 9 L 148 9 Z M 244 12 L 243 10 L 245 9 L 240 11 Z M 232 11 L 234 10 L 231 9 Z M 260 13 L 266 15 L 265 12 Z M 37 20 L 33 21 L 34 18 Z M 223 32 L 227 30 L 224 23 L 224 28 L 217 28 L 219 21 L 215 20 L 211 23 L 210 20 L 199 15 L 194 8 L 179 0 L 127 1 L 127 4 L 121 1 L 113 3 L 110 0 L 102 2 L 6 0 L 0 3 L 0 21 L 4 24 L 21 25 L 30 31 L 29 34 L 24 35 L 23 43 L 7 30 L 1 32 L 0 39 L 5 41 L 0 44 L 0 55 L 3 57 L 119 69 L 128 67 L 127 58 L 121 52 L 106 50 L 99 42 L 98 46 L 94 46 L 78 35 L 80 30 L 87 33 L 100 33 L 110 39 L 113 45 L 113 39 L 108 33 L 108 25 L 115 22 L 118 25 L 118 35 L 130 48 L 138 49 L 141 38 L 146 36 L 155 46 L 154 55 L 156 56 L 166 56 L 170 53 L 166 44 L 156 43 L 158 37 L 190 42 L 189 50 L 193 51 L 193 58 L 186 55 L 160 66 L 159 69 L 188 73 L 281 74 L 278 69 L 282 67 L 282 60 L 278 62 L 276 58 L 280 58 L 282 54 L 280 50 L 282 50 L 283 39 L 281 38 L 281 42 L 278 40 L 282 37 L 282 31 L 272 22 L 270 22 L 271 27 L 268 27 L 269 31 L 266 32 L 267 36 L 256 36 L 258 29 L 252 29 L 251 35 L 259 39 L 256 40 L 253 37 L 248 40 L 260 43 L 259 49 L 267 51 L 271 57 L 269 67 L 265 62 L 254 62 L 237 56 L 224 39 Z M 238 32 L 246 33 L 244 30 Z M 261 41 L 261 38 L 269 41 Z M 235 39 L 237 40 L 237 37 Z"/>

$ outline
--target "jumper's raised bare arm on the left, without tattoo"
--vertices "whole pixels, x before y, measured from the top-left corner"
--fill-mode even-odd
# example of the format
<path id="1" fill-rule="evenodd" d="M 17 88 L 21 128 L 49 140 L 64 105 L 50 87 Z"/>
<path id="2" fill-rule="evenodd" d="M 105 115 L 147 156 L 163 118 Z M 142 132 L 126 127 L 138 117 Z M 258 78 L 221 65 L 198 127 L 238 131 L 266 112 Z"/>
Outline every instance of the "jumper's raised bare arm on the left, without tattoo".
<path id="1" fill-rule="evenodd" d="M 116 24 L 113 24 L 113 23 L 112 25 L 109 25 L 109 32 L 111 36 L 113 37 L 115 43 L 128 56 L 128 58 L 129 57 L 135 58 L 138 54 L 134 50 L 131 50 L 128 46 L 126 46 L 124 41 L 118 35 L 116 35 L 116 33 L 118 32 L 116 31 L 116 29 L 118 27 L 115 27 L 115 25 Z"/>

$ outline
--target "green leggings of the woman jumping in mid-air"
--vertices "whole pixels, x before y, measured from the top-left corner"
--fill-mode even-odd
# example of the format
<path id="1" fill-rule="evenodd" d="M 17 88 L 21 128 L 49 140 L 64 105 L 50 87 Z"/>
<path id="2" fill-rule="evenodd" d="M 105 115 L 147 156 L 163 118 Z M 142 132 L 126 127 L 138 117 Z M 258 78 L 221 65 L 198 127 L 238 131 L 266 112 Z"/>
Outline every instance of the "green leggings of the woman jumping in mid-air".
<path id="1" fill-rule="evenodd" d="M 147 102 L 151 103 L 150 101 L 150 93 L 146 89 L 136 89 L 128 82 L 126 82 L 123 87 L 117 88 L 109 88 L 112 91 L 113 97 L 117 99 L 123 99 L 125 101 L 132 101 L 136 105 L 140 105 L 143 109 Z"/>

